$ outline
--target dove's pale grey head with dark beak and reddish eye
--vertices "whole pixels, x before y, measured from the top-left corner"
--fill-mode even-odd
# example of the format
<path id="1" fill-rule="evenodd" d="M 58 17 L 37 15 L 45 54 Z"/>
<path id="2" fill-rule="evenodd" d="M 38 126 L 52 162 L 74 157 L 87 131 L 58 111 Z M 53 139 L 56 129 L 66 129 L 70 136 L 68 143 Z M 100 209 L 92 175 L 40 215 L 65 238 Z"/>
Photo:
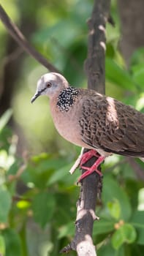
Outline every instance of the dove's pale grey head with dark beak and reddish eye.
<path id="1" fill-rule="evenodd" d="M 58 73 L 46 73 L 37 82 L 37 91 L 31 99 L 34 102 L 40 95 L 47 95 L 50 98 L 58 96 L 60 91 L 69 87 L 67 80 Z"/>

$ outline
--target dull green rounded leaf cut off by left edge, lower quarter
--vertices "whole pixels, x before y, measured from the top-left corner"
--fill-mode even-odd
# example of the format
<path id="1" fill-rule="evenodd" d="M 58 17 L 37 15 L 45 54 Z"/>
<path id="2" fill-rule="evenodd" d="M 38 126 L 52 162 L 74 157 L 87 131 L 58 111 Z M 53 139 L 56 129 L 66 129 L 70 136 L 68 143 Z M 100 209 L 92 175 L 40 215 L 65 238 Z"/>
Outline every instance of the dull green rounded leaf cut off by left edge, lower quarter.
<path id="1" fill-rule="evenodd" d="M 10 193 L 4 187 L 0 187 L 0 222 L 7 222 L 11 203 Z"/>

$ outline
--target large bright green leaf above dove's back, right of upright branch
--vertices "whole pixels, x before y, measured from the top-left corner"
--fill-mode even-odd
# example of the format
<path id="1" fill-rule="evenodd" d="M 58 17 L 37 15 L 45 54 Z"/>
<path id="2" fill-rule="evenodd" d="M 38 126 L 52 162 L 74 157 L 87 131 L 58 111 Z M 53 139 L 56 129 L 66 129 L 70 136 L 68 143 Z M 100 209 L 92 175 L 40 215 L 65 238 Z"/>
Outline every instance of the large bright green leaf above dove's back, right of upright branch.
<path id="1" fill-rule="evenodd" d="M 105 74 L 107 80 L 130 91 L 136 91 L 134 81 L 129 73 L 118 66 L 113 59 L 106 58 Z"/>

